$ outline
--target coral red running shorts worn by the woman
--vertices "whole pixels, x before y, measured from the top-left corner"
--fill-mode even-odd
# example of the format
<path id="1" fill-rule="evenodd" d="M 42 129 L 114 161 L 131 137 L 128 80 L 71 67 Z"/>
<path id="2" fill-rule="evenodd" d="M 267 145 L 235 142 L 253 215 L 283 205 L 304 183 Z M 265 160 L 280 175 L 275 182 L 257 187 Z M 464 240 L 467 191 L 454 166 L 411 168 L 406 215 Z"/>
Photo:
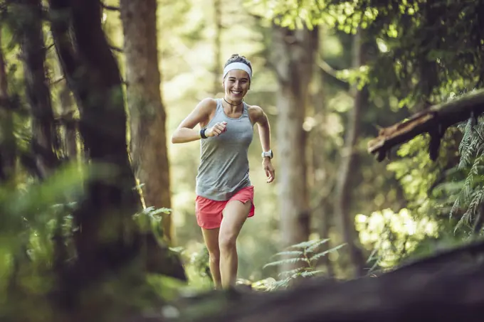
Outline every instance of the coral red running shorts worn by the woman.
<path id="1" fill-rule="evenodd" d="M 233 200 L 238 200 L 242 203 L 251 201 L 251 210 L 248 212 L 248 217 L 252 217 L 256 210 L 253 199 L 253 186 L 242 188 L 241 190 L 238 190 L 230 199 L 223 201 L 210 200 L 197 195 L 195 199 L 196 222 L 200 227 L 205 229 L 219 228 L 223 218 L 223 209 L 229 201 Z"/>

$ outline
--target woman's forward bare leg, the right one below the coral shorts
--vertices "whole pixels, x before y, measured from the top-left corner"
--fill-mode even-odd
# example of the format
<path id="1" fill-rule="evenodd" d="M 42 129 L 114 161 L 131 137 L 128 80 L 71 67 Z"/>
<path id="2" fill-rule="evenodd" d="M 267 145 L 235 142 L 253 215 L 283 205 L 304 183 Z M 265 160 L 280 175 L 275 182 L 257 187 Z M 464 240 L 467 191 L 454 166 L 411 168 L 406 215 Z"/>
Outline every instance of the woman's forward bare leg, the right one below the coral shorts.
<path id="1" fill-rule="evenodd" d="M 236 240 L 250 209 L 250 200 L 246 203 L 233 200 L 228 202 L 223 209 L 219 234 L 220 273 L 223 289 L 228 289 L 236 284 L 238 269 Z"/>

